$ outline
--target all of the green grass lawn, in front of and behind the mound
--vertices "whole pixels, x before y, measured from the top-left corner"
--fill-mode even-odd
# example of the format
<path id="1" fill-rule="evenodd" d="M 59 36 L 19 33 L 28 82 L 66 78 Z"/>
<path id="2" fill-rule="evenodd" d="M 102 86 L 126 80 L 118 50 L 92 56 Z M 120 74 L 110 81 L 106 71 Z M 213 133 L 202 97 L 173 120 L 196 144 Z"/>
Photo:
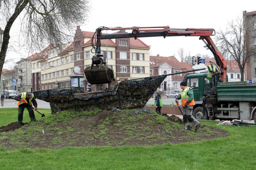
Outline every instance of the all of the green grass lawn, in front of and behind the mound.
<path id="1" fill-rule="evenodd" d="M 40 111 L 50 113 L 47 109 Z M 4 114 L 0 109 L 0 112 L 1 125 L 2 121 L 6 124 L 16 121 L 16 109 L 6 109 Z M 28 113 L 25 116 L 29 121 Z M 255 169 L 256 126 L 217 126 L 215 121 L 201 124 L 227 130 L 229 136 L 176 145 L 34 150 L 0 147 L 0 169 Z"/>

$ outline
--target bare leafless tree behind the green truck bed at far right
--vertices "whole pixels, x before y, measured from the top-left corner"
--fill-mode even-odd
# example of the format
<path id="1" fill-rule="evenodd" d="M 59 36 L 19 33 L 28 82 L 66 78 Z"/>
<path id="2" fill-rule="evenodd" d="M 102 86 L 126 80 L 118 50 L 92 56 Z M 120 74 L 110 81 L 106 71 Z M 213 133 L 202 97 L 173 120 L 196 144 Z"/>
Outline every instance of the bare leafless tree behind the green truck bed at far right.
<path id="1" fill-rule="evenodd" d="M 219 31 L 216 35 L 218 48 L 222 55 L 226 60 L 236 60 L 241 73 L 241 81 L 244 81 L 245 63 L 251 56 L 256 55 L 256 48 L 250 48 L 244 53 L 247 49 L 247 44 L 244 44 L 244 33 L 252 35 L 251 29 L 244 30 L 243 18 L 238 17 L 236 20 L 229 21 L 226 30 Z"/>

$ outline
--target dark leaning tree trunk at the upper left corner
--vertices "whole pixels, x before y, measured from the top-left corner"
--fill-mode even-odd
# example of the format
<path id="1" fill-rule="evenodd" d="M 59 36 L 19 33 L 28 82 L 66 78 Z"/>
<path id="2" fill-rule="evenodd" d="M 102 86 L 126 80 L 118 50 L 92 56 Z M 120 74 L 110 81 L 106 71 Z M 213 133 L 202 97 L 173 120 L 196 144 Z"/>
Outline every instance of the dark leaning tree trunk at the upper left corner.
<path id="1" fill-rule="evenodd" d="M 5 60 L 6 52 L 8 49 L 8 44 L 9 44 L 9 39 L 10 39 L 9 33 L 11 30 L 12 24 L 14 23 L 16 18 L 20 15 L 20 13 L 26 7 L 27 4 L 28 4 L 28 0 L 19 0 L 13 15 L 7 21 L 7 24 L 4 28 L 3 43 L 2 43 L 2 48 L 1 48 L 1 52 L 0 52 L 0 76 L 2 74 L 4 60 Z"/>

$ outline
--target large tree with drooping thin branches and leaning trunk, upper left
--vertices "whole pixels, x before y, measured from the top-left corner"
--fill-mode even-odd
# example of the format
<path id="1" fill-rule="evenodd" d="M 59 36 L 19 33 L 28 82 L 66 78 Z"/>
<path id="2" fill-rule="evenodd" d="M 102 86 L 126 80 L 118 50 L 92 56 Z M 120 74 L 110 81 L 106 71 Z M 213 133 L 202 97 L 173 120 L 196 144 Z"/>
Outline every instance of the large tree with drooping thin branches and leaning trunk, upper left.
<path id="1" fill-rule="evenodd" d="M 10 30 L 21 18 L 20 33 L 30 49 L 56 46 L 71 38 L 74 25 L 84 23 L 90 9 L 89 0 L 0 0 L 0 24 L 4 24 L 0 52 L 0 75 L 8 49 Z M 4 23 L 3 23 L 4 22 Z"/>

